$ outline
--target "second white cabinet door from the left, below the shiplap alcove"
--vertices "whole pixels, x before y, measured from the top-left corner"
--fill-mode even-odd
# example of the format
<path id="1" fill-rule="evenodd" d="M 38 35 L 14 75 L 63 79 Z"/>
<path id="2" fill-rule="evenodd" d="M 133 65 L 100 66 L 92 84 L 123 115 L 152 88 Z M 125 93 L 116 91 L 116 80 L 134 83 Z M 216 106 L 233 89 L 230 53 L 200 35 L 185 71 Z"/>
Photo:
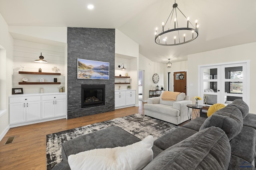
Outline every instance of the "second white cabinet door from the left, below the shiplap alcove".
<path id="1" fill-rule="evenodd" d="M 40 101 L 26 103 L 26 121 L 40 120 Z"/>

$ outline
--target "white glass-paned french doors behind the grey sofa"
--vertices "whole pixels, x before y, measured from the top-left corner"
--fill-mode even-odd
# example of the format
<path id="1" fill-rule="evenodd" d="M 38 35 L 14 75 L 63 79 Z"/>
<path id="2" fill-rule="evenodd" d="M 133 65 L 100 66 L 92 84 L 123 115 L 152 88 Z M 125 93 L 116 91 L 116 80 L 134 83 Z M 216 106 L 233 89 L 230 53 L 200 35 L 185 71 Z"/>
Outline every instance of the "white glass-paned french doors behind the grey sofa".
<path id="1" fill-rule="evenodd" d="M 201 104 L 230 104 L 237 98 L 249 104 L 248 66 L 248 62 L 200 66 Z"/>

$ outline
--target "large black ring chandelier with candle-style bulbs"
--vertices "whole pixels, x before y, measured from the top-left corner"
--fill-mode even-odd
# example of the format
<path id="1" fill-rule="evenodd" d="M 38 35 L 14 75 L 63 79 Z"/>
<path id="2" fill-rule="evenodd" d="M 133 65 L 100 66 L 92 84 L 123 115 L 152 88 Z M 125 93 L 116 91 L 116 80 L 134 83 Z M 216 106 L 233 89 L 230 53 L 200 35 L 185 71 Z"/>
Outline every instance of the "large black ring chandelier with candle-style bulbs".
<path id="1" fill-rule="evenodd" d="M 172 7 L 168 19 L 165 23 L 162 22 L 162 30 L 160 30 L 160 33 L 157 32 L 158 28 L 156 28 L 155 42 L 159 45 L 181 45 L 193 41 L 198 37 L 199 25 L 197 24 L 197 20 L 195 21 L 194 27 L 190 22 L 189 17 L 187 18 L 180 11 L 178 4 L 176 4 L 176 0 Z M 180 18 L 179 23 L 178 17 Z M 181 27 L 179 27 L 178 24 L 180 24 Z"/>

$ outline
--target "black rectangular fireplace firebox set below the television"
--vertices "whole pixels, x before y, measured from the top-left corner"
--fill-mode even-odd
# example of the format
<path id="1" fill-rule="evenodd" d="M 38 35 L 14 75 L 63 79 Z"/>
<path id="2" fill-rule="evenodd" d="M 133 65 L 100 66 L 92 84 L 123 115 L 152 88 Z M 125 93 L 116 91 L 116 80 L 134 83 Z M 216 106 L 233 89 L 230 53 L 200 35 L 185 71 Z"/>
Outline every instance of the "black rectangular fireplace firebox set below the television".
<path id="1" fill-rule="evenodd" d="M 105 105 L 105 84 L 82 84 L 81 90 L 81 108 Z"/>

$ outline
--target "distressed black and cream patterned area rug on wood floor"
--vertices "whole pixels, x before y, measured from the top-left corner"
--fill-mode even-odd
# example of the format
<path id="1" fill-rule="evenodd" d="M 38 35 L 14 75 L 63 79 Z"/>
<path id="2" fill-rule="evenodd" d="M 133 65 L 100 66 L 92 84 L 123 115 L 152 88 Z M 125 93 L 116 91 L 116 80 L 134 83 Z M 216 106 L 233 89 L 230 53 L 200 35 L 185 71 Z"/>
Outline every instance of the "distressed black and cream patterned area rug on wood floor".
<path id="1" fill-rule="evenodd" d="M 67 131 L 52 133 L 46 135 L 47 170 L 51 170 L 56 164 L 61 162 L 62 143 L 75 137 L 105 129 L 110 126 L 119 126 L 139 139 L 144 139 L 148 135 L 152 135 L 154 140 L 178 127 L 172 123 L 136 113 L 134 115 L 94 123 L 92 125 L 86 125 Z"/>

